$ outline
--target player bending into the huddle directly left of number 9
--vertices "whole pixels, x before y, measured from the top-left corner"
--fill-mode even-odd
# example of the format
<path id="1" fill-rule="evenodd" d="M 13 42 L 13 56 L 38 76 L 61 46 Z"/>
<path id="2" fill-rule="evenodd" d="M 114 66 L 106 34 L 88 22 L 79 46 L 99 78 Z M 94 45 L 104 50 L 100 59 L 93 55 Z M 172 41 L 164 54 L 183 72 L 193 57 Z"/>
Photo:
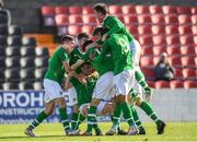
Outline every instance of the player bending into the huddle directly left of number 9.
<path id="1" fill-rule="evenodd" d="M 91 105 L 88 113 L 88 129 L 83 133 L 84 135 L 92 135 L 92 129 L 96 129 L 96 109 L 97 105 L 100 104 L 101 99 L 104 98 L 106 95 L 112 94 L 112 90 L 114 86 L 114 73 L 113 69 L 114 66 L 112 63 L 112 57 L 106 57 L 104 61 L 95 61 L 94 58 L 100 54 L 100 51 L 93 47 L 90 48 L 84 57 L 74 63 L 71 69 L 74 70 L 85 61 L 90 61 L 92 67 L 99 72 L 100 78 L 96 82 Z"/>

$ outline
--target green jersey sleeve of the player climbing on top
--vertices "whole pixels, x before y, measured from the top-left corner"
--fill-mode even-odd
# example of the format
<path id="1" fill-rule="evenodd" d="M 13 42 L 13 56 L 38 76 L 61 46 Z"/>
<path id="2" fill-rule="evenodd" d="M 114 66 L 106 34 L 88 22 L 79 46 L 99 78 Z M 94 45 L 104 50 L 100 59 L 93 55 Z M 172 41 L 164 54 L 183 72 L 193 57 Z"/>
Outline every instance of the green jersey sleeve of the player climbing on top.
<path id="1" fill-rule="evenodd" d="M 103 23 L 103 27 L 109 28 L 106 35 L 117 34 L 123 28 L 123 23 L 115 17 L 108 17 L 106 22 Z"/>

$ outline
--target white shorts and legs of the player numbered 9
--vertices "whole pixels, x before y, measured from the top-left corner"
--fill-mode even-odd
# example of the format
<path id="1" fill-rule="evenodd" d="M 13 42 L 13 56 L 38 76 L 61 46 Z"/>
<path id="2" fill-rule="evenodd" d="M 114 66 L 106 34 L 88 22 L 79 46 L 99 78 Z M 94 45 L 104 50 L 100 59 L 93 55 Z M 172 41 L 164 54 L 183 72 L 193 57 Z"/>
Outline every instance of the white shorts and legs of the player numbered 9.
<path id="1" fill-rule="evenodd" d="M 128 134 L 136 134 L 138 132 L 136 125 L 134 122 L 130 106 L 127 103 L 127 94 L 129 93 L 129 90 L 132 87 L 134 75 L 135 74 L 132 70 L 126 70 L 115 75 L 115 87 L 116 87 L 115 91 L 117 94 L 116 108 L 114 111 L 113 127 L 108 131 L 108 133 L 112 132 L 112 134 L 115 134 L 117 132 L 118 119 L 120 117 L 121 111 L 123 111 L 124 118 L 129 125 Z"/>

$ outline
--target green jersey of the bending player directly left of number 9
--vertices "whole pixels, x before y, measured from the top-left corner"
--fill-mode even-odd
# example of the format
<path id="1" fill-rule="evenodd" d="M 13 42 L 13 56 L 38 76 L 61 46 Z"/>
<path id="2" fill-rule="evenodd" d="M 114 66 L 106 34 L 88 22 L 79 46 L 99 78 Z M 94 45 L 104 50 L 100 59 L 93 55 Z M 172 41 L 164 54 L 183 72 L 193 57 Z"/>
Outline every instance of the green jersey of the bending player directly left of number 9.
<path id="1" fill-rule="evenodd" d="M 96 61 L 90 60 L 89 56 L 91 52 L 96 52 L 97 56 L 100 54 L 100 51 L 95 47 L 93 47 L 85 52 L 82 59 L 84 61 L 90 61 L 91 66 L 99 72 L 100 76 L 108 71 L 114 71 L 113 59 L 111 56 L 106 56 L 106 58 L 104 58 L 102 61 Z"/>

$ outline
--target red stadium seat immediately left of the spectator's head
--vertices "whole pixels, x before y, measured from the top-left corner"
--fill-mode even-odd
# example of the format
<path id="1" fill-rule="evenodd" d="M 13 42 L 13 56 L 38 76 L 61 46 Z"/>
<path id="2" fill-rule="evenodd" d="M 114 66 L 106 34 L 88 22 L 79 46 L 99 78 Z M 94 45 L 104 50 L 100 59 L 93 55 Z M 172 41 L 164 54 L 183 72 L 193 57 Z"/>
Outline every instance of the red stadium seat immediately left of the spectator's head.
<path id="1" fill-rule="evenodd" d="M 142 68 L 153 68 L 154 62 L 153 62 L 152 57 L 147 57 L 147 56 L 141 57 L 140 66 Z"/>

